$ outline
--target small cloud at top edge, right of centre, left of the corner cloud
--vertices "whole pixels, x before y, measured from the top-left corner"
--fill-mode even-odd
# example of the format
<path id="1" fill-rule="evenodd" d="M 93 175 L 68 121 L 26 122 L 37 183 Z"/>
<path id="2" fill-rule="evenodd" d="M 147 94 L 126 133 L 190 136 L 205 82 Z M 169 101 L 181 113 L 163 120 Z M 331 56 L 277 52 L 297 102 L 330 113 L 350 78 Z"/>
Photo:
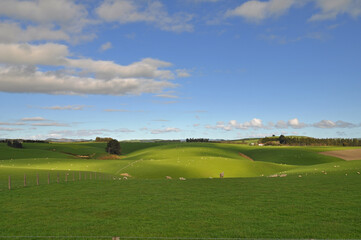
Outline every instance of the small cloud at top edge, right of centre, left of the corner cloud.
<path id="1" fill-rule="evenodd" d="M 228 10 L 226 16 L 239 16 L 249 21 L 261 21 L 286 13 L 296 0 L 247 1 L 235 9 Z"/>

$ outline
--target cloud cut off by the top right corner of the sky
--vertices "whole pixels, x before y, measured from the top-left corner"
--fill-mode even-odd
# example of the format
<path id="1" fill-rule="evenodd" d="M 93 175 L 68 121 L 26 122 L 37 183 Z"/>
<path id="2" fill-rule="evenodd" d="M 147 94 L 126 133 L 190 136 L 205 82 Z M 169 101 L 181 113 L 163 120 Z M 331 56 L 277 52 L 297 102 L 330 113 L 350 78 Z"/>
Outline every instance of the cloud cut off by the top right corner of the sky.
<path id="1" fill-rule="evenodd" d="M 334 19 L 338 15 L 348 14 L 351 17 L 358 17 L 361 15 L 361 1 L 360 0 L 314 0 L 316 6 L 321 9 L 320 13 L 314 14 L 309 19 L 310 21 L 322 21 Z"/>

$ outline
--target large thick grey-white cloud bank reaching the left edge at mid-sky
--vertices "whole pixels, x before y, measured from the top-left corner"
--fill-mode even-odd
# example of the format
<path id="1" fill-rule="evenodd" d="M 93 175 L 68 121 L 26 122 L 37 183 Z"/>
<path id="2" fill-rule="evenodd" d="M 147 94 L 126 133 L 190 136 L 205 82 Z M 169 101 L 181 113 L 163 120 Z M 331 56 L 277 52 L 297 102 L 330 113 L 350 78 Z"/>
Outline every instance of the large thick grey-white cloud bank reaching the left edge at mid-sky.
<path id="1" fill-rule="evenodd" d="M 169 62 L 145 58 L 130 65 L 69 58 L 62 44 L 0 44 L 0 91 L 48 94 L 139 95 L 173 88 Z M 10 64 L 10 65 L 9 65 Z M 40 71 L 37 65 L 61 67 Z"/>

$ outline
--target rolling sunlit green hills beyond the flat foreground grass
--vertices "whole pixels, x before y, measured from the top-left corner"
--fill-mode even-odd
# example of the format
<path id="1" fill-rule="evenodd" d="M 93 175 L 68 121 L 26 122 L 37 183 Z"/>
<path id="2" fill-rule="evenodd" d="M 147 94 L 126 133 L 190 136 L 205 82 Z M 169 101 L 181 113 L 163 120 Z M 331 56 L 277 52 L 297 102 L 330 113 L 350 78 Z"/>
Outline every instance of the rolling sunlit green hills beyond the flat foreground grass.
<path id="1" fill-rule="evenodd" d="M 318 154 L 348 148 L 259 147 L 222 143 L 135 143 L 121 142 L 122 155 L 111 157 L 106 143 L 25 143 L 23 149 L 0 144 L 0 179 L 27 172 L 102 172 L 133 178 L 226 178 L 269 176 L 285 172 L 319 172 L 313 166 L 325 164 L 332 172 L 345 161 Z M 252 158 L 245 158 L 244 155 Z M 354 161 L 355 170 L 361 161 Z M 313 170 L 312 170 L 313 169 Z M 326 170 L 326 169 L 325 169 Z"/>

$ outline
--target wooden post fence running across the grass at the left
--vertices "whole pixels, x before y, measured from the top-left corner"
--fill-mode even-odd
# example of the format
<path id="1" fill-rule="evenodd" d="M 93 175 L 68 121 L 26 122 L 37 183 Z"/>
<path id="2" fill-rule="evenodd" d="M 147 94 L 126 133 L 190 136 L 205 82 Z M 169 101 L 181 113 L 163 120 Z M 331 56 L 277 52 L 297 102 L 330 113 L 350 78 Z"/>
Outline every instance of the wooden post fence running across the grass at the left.
<path id="1" fill-rule="evenodd" d="M 30 186 L 68 183 L 76 181 L 112 180 L 113 175 L 99 172 L 40 172 L 9 174 L 0 178 L 0 191 L 13 190 Z"/>

